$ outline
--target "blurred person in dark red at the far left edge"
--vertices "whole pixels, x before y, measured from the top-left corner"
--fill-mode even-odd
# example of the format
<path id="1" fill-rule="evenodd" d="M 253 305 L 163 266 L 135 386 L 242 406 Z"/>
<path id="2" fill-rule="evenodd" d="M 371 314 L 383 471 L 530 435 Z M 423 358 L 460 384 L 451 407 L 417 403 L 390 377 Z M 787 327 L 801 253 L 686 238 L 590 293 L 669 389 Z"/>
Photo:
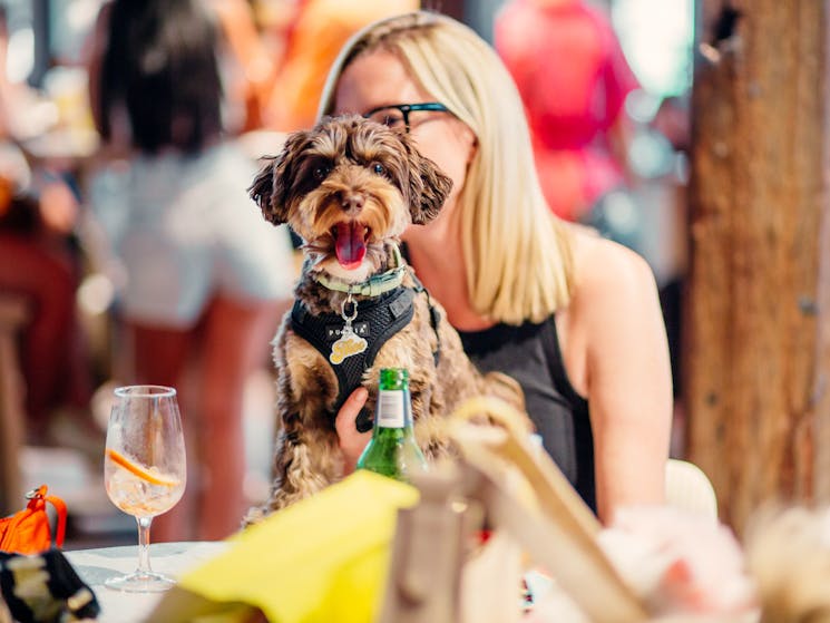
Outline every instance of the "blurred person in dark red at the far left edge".
<path id="1" fill-rule="evenodd" d="M 0 68 L 7 67 L 7 26 L 0 7 Z M 30 163 L 19 147 L 37 99 L 27 84 L 0 71 L 0 294 L 27 309 L 19 340 L 27 444 L 96 456 L 104 437 L 90 413 L 94 381 L 75 303 L 82 271 L 74 235 L 78 197 L 61 172 Z"/>

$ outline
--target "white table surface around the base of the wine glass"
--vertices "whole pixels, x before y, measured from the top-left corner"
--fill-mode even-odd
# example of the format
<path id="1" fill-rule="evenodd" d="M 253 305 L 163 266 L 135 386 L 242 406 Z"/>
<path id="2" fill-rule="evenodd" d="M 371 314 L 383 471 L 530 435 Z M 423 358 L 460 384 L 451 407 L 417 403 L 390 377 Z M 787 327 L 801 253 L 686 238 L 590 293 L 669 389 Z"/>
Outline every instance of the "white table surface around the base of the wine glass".
<path id="1" fill-rule="evenodd" d="M 179 577 L 191 568 L 221 554 L 224 542 L 182 542 L 150 544 L 153 571 Z M 138 546 L 100 547 L 64 552 L 80 578 L 95 592 L 101 613 L 99 623 L 141 623 L 164 593 L 124 593 L 107 588 L 104 581 L 136 570 Z"/>

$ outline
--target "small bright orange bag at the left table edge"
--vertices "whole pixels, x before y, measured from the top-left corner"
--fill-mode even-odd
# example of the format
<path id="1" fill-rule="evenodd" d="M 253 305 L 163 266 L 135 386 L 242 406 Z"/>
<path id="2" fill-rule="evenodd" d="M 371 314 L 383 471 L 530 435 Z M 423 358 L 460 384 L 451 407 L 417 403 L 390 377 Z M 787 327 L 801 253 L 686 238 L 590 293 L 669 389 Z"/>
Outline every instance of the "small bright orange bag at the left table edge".
<path id="1" fill-rule="evenodd" d="M 57 534 L 55 545 L 64 546 L 66 534 L 66 503 L 57 496 L 46 495 L 47 486 L 26 494 L 29 504 L 26 508 L 0 519 L 0 551 L 16 554 L 39 554 L 52 546 L 49 515 L 46 503 L 50 503 L 58 512 Z"/>

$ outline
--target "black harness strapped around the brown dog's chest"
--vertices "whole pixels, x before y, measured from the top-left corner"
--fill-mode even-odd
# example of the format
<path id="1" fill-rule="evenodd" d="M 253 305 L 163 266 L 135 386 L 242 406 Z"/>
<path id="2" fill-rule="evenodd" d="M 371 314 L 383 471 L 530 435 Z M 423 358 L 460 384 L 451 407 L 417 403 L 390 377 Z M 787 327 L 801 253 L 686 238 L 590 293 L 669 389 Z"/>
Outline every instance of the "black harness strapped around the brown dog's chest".
<path id="1" fill-rule="evenodd" d="M 414 275 L 412 278 L 414 279 Z M 373 299 L 365 299 L 360 303 L 355 301 L 348 303 L 353 309 L 346 311 L 344 305 L 343 314 L 352 313 L 353 315 L 346 322 L 344 322 L 344 315 L 336 313 L 313 315 L 302 302 L 294 301 L 291 310 L 291 328 L 294 333 L 318 349 L 338 377 L 338 399 L 332 415 L 336 415 L 349 395 L 361 384 L 363 373 L 372 367 L 381 347 L 411 322 L 414 315 L 414 298 L 421 293 L 427 295 L 430 323 L 438 337 L 440 314 L 432 305 L 429 293 L 418 280 L 416 280 L 414 288 L 400 285 Z M 344 330 L 346 325 L 351 327 L 351 332 L 358 338 L 365 340 L 367 345 L 361 352 L 348 353 L 341 359 L 335 343 L 342 341 L 344 333 L 348 333 L 348 330 Z M 432 353 L 436 364 L 440 358 L 440 348 L 439 339 Z"/>

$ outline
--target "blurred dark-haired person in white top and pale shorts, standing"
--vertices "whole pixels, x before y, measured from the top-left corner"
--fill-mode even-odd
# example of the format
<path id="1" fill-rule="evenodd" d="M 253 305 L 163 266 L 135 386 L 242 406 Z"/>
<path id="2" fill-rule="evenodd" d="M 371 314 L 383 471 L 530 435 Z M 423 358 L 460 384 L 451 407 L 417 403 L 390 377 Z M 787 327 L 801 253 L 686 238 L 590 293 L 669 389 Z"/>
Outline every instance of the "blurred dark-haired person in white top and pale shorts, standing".
<path id="1" fill-rule="evenodd" d="M 114 0 L 91 46 L 105 154 L 125 156 L 89 184 L 123 266 L 123 380 L 179 388 L 196 468 L 183 503 L 154 525 L 165 541 L 217 539 L 240 526 L 243 390 L 294 280 L 286 231 L 247 196 L 255 163 L 223 132 L 218 46 L 216 16 L 201 0 Z"/>

